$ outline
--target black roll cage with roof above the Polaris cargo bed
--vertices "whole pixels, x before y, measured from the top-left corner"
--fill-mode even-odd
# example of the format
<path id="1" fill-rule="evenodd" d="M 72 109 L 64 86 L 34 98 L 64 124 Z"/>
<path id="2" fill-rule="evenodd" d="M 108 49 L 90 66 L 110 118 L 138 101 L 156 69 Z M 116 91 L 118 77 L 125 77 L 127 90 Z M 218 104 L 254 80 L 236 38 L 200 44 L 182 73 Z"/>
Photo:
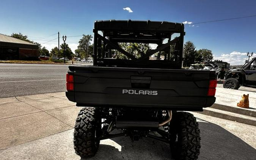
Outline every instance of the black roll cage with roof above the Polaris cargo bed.
<path id="1" fill-rule="evenodd" d="M 101 31 L 102 35 L 98 32 Z M 116 67 L 150 67 L 150 68 L 174 68 L 182 67 L 184 24 L 157 21 L 134 21 L 134 20 L 104 20 L 94 22 L 94 66 Z M 171 39 L 174 33 L 179 37 Z M 167 42 L 164 44 L 164 40 Z M 154 50 L 148 50 L 140 57 L 128 53 L 118 43 L 151 43 L 157 44 Z M 170 45 L 174 45 L 173 53 Z M 117 50 L 127 56 L 128 60 L 114 59 L 112 50 Z M 149 57 L 158 53 L 157 60 Z M 160 60 L 164 55 L 164 61 Z M 174 61 L 171 61 L 171 56 Z"/>

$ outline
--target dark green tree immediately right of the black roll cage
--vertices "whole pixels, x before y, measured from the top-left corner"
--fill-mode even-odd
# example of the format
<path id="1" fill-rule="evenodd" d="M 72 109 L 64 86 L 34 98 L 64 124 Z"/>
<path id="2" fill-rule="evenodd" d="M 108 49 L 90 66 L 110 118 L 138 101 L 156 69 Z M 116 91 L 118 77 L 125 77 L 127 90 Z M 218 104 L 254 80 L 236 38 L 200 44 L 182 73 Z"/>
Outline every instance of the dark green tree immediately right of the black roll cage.
<path id="1" fill-rule="evenodd" d="M 190 66 L 195 62 L 196 47 L 191 41 L 187 41 L 183 47 L 184 61 L 183 66 Z"/>

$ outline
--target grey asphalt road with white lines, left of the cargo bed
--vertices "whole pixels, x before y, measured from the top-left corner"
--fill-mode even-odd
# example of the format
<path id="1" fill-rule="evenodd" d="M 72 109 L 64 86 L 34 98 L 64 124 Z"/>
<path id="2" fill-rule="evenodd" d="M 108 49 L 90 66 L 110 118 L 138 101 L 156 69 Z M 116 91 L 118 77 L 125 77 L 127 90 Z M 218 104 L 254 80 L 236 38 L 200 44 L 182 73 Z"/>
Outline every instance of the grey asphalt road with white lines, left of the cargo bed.
<path id="1" fill-rule="evenodd" d="M 68 66 L 0 63 L 0 98 L 66 91 Z"/>

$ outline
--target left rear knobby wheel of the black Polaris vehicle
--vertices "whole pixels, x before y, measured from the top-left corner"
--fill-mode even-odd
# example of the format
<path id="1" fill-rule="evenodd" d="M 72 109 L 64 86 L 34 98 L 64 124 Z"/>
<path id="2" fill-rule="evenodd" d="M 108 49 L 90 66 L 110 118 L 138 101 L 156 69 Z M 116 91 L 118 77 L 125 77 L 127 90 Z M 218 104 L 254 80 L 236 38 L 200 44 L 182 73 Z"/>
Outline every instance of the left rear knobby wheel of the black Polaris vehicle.
<path id="1" fill-rule="evenodd" d="M 99 110 L 94 107 L 83 108 L 77 116 L 74 130 L 74 149 L 81 157 L 93 157 L 99 148 L 100 131 Z"/>

